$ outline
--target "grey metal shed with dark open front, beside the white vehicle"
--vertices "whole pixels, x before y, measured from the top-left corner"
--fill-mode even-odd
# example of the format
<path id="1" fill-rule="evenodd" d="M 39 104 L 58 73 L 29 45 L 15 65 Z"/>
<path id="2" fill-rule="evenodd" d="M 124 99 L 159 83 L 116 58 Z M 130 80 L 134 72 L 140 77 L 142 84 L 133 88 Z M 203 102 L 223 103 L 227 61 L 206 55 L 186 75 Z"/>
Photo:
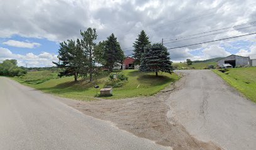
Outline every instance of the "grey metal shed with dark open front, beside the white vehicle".
<path id="1" fill-rule="evenodd" d="M 221 64 L 231 64 L 233 68 L 235 68 L 236 66 L 245 66 L 250 64 L 250 59 L 249 57 L 237 56 L 232 54 L 218 61 L 218 65 L 220 66 Z"/>

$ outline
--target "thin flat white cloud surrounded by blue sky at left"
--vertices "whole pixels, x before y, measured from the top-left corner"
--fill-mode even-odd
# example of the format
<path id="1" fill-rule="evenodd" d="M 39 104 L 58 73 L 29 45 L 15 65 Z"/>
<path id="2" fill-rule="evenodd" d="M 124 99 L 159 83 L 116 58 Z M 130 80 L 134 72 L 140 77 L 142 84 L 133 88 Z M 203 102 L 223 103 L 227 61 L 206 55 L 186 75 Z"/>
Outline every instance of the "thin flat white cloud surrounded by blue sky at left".
<path id="1" fill-rule="evenodd" d="M 38 42 L 23 42 L 23 41 L 16 41 L 16 40 L 8 40 L 3 42 L 3 44 L 6 44 L 8 46 L 14 46 L 14 47 L 21 47 L 21 48 L 35 48 L 41 46 Z"/>

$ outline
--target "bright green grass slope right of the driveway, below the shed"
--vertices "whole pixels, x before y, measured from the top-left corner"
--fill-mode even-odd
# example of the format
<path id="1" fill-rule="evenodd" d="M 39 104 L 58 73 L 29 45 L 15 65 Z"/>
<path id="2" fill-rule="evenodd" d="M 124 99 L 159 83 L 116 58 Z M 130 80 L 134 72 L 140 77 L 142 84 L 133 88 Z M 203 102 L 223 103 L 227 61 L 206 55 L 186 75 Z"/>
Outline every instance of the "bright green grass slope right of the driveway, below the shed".
<path id="1" fill-rule="evenodd" d="M 218 70 L 214 70 L 214 72 L 256 103 L 256 67 L 233 68 L 224 73 Z"/>

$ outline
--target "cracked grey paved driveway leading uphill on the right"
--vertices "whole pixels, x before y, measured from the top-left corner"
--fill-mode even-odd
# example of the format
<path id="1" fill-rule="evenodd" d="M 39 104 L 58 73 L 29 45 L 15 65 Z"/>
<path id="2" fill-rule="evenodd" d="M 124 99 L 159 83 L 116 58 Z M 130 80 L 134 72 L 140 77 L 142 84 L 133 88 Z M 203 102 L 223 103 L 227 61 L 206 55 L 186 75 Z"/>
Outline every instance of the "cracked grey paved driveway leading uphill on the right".
<path id="1" fill-rule="evenodd" d="M 196 138 L 213 141 L 223 149 L 255 150 L 256 104 L 210 70 L 179 72 L 186 77 L 167 101 L 171 107 L 168 117 Z"/>

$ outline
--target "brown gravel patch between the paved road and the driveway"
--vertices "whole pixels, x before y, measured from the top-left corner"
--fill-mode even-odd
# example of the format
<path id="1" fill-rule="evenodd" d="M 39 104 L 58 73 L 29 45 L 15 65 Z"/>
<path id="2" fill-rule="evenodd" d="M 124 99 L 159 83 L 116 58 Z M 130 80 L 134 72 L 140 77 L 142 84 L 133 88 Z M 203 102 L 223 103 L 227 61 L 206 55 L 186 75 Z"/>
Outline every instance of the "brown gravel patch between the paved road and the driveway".
<path id="1" fill-rule="evenodd" d="M 176 84 L 179 85 L 179 82 Z M 167 100 L 176 91 L 176 84 L 147 98 L 102 99 L 90 102 L 63 98 L 60 100 L 93 118 L 111 121 L 119 129 L 163 146 L 171 146 L 174 150 L 221 149 L 211 141 L 199 141 L 191 136 L 176 119 L 168 118 L 167 114 L 171 109 Z"/>

